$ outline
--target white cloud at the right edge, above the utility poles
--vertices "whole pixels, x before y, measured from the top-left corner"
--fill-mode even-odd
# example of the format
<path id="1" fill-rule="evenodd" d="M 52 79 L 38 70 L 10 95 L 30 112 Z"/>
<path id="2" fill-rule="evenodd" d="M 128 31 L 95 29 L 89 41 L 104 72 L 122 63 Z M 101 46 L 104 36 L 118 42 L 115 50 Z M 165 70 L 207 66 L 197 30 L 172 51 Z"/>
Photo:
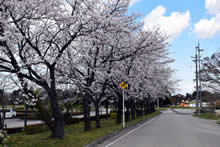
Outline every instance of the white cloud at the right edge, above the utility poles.
<path id="1" fill-rule="evenodd" d="M 211 19 L 201 19 L 194 25 L 194 32 L 199 38 L 213 38 L 220 32 L 220 13 Z"/>

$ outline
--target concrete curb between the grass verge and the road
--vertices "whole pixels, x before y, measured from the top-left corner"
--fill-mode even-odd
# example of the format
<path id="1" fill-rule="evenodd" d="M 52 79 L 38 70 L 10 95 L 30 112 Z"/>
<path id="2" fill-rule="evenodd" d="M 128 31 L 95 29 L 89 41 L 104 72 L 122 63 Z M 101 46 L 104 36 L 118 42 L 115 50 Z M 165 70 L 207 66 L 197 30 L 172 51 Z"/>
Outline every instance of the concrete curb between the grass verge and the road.
<path id="1" fill-rule="evenodd" d="M 85 145 L 84 147 L 97 147 L 99 144 L 101 144 L 101 143 L 103 143 L 103 142 L 105 142 L 105 141 L 107 141 L 107 140 L 109 140 L 109 139 L 111 139 L 111 138 L 117 136 L 118 134 L 122 134 L 123 132 L 126 133 L 126 132 L 128 132 L 129 130 L 132 130 L 132 129 L 134 129 L 134 128 L 136 128 L 136 127 L 138 127 L 138 126 L 144 124 L 145 122 L 149 121 L 150 119 L 153 119 L 153 118 L 159 116 L 160 114 L 161 114 L 161 112 L 160 112 L 159 114 L 157 114 L 157 115 L 155 115 L 155 116 L 152 116 L 152 117 L 150 117 L 150 118 L 147 118 L 147 119 L 145 119 L 145 120 L 143 120 L 143 121 L 141 121 L 141 122 L 138 122 L 138 123 L 133 124 L 133 125 L 129 125 L 129 126 L 127 126 L 126 128 L 123 128 L 123 129 L 121 129 L 121 130 L 119 130 L 119 131 L 115 131 L 115 132 L 113 132 L 113 133 L 111 133 L 111 134 L 109 134 L 109 135 L 106 135 L 106 136 L 104 136 L 104 137 L 102 137 L 102 138 L 100 138 L 100 139 L 98 139 L 98 140 L 95 140 L 95 141 L 93 141 L 93 142 L 91 142 L 91 143 Z"/>

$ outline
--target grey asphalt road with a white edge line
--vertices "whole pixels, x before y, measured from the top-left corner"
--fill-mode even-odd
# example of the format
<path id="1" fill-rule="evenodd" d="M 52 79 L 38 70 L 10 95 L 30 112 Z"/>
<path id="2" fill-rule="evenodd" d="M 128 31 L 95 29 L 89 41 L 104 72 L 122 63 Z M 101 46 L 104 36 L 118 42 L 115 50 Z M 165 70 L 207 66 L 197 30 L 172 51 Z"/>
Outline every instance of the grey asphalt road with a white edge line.
<path id="1" fill-rule="evenodd" d="M 171 110 L 99 147 L 220 147 L 220 125 L 192 117 L 193 110 Z"/>

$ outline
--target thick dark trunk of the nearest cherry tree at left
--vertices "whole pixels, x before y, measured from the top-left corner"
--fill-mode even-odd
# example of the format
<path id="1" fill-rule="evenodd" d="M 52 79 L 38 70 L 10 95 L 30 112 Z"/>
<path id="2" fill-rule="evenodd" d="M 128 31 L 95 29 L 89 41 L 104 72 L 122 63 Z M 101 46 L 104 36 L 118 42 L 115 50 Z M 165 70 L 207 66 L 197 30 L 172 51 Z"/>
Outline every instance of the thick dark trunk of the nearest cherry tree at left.
<path id="1" fill-rule="evenodd" d="M 55 71 L 53 66 L 50 68 L 50 80 L 51 80 L 51 87 L 50 90 L 48 91 L 48 95 L 49 95 L 50 104 L 53 111 L 53 117 L 55 122 L 55 131 L 53 137 L 63 139 L 64 118 L 58 106 L 58 101 L 56 96 Z"/>

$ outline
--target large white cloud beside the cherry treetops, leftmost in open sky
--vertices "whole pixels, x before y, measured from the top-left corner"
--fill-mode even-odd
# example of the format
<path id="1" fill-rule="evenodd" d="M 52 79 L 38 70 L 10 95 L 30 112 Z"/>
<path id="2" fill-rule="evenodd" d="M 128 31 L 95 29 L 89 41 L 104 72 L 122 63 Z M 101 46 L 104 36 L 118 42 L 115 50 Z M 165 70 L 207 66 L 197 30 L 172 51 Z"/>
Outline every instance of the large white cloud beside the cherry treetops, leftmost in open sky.
<path id="1" fill-rule="evenodd" d="M 153 9 L 151 13 L 144 18 L 144 29 L 159 25 L 170 37 L 170 40 L 173 40 L 189 26 L 190 12 L 172 12 L 170 16 L 164 16 L 165 13 L 166 8 L 163 6 L 158 6 Z"/>

